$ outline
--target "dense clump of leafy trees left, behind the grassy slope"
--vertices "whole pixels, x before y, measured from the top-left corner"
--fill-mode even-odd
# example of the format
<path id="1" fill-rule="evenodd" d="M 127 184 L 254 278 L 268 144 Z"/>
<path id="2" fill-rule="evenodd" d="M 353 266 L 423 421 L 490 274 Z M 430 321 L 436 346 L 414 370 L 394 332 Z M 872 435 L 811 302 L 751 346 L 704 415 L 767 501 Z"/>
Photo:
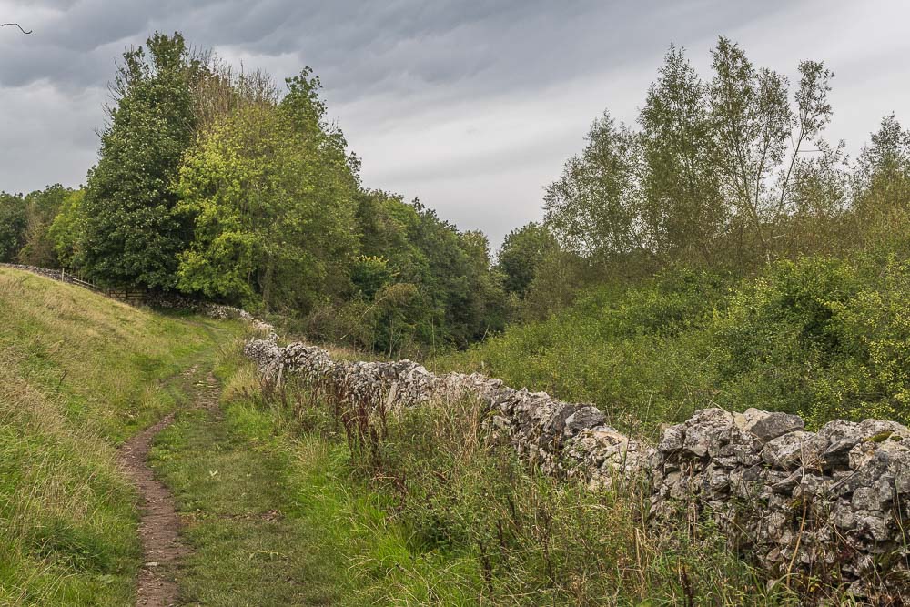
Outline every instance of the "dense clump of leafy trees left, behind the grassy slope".
<path id="1" fill-rule="evenodd" d="M 156 34 L 110 90 L 85 187 L 0 199 L 0 260 L 274 312 L 389 354 L 504 326 L 487 238 L 363 187 L 309 68 L 279 91 Z"/>

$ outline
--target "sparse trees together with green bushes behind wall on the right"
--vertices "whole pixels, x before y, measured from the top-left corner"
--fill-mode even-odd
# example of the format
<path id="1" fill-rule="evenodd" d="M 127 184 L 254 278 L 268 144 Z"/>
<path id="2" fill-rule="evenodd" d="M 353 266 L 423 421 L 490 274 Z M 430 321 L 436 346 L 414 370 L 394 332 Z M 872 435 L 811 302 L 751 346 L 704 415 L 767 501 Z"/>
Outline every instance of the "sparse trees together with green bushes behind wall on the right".
<path id="1" fill-rule="evenodd" d="M 654 440 L 705 407 L 910 420 L 910 133 L 885 116 L 848 158 L 823 64 L 791 86 L 726 39 L 712 59 L 671 47 L 635 125 L 594 122 L 499 256 L 529 321 L 440 369 Z"/>

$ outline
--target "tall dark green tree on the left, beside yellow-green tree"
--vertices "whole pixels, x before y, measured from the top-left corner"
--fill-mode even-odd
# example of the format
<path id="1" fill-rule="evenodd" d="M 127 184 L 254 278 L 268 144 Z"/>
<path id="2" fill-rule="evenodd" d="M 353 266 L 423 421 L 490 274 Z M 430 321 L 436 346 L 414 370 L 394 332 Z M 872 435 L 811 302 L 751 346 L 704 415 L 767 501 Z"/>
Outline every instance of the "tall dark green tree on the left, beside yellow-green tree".
<path id="1" fill-rule="evenodd" d="M 171 187 L 193 142 L 192 83 L 201 70 L 180 34 L 156 34 L 126 51 L 114 106 L 89 173 L 80 263 L 109 285 L 170 289 L 191 236 Z"/>

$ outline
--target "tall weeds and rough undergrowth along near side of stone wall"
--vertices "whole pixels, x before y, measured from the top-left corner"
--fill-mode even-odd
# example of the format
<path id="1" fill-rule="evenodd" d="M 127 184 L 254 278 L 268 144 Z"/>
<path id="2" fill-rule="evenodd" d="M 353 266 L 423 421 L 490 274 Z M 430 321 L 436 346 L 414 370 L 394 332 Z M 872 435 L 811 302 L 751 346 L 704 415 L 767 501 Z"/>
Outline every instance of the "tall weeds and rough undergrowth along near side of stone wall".
<path id="1" fill-rule="evenodd" d="M 267 435 L 301 454 L 298 506 L 322 512 L 348 563 L 339 604 L 798 602 L 708 524 L 654 531 L 639 488 L 594 491 L 528 466 L 484 428 L 476 401 L 371 411 L 239 369 L 228 416 L 264 416 Z M 323 474 L 301 463 L 314 450 L 333 454 Z"/>

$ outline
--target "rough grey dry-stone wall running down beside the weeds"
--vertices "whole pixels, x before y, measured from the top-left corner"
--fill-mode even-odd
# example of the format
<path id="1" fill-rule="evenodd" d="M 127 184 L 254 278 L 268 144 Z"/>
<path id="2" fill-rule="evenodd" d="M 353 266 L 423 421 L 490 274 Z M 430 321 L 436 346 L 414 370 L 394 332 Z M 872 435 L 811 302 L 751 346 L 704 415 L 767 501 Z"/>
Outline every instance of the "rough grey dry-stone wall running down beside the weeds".
<path id="1" fill-rule="evenodd" d="M 857 597 L 910 600 L 910 430 L 832 421 L 818 432 L 784 413 L 696 412 L 656 446 L 606 425 L 590 404 L 511 389 L 483 375 L 435 375 L 410 360 L 349 362 L 324 349 L 254 339 L 245 352 L 274 381 L 288 374 L 372 407 L 478 398 L 491 431 L 542 470 L 612 489 L 644 481 L 653 524 L 710 518 L 771 576 L 812 572 Z"/>

